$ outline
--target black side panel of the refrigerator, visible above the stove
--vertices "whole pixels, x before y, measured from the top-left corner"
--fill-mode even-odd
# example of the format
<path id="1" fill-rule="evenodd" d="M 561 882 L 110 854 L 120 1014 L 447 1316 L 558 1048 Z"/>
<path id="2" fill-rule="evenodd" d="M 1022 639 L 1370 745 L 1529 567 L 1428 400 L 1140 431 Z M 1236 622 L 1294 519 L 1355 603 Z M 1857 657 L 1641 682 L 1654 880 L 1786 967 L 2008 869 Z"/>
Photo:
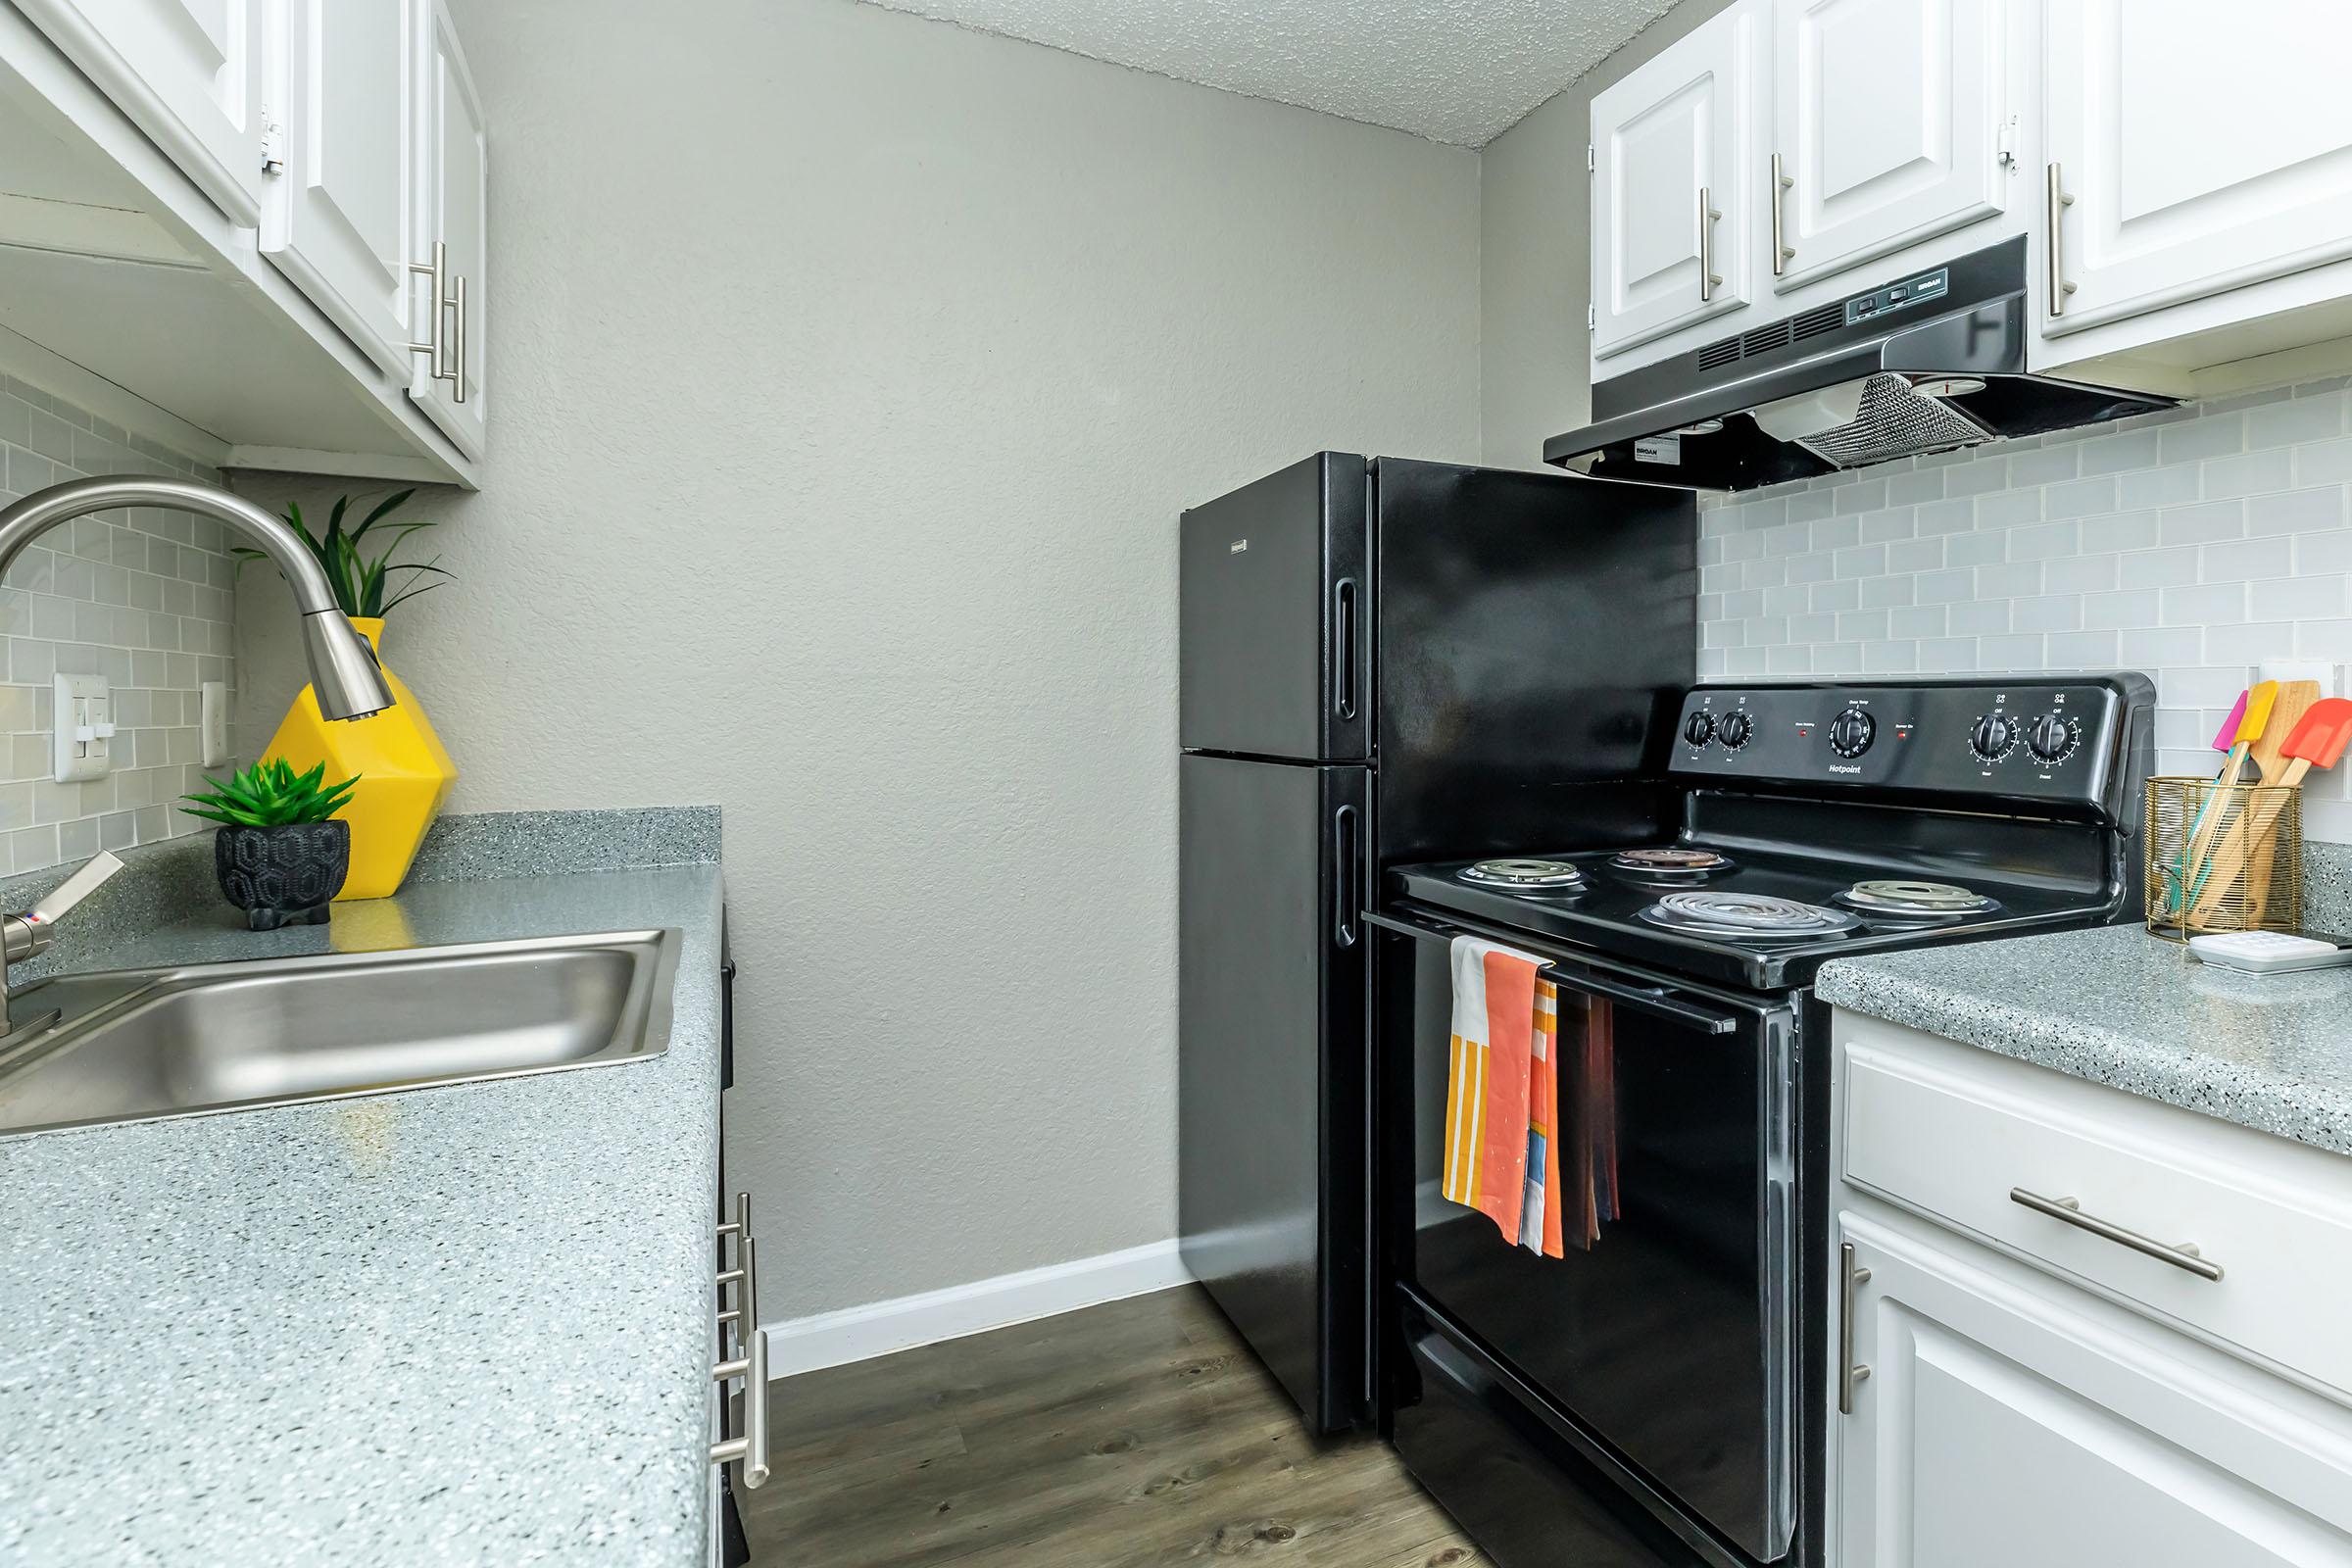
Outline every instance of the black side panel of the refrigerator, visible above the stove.
<path id="1" fill-rule="evenodd" d="M 1691 491 L 1381 458 L 1381 865 L 1644 837 L 1698 679 Z"/>

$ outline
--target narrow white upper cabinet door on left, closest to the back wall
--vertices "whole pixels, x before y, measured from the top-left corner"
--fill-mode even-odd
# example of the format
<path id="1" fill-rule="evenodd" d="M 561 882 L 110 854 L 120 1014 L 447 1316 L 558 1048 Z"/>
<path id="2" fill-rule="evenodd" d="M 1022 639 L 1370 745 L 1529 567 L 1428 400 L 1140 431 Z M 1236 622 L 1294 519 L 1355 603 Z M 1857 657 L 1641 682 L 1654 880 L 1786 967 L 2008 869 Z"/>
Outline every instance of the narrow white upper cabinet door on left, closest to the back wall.
<path id="1" fill-rule="evenodd" d="M 442 244 L 452 301 L 440 313 L 437 329 L 447 339 L 447 362 L 463 381 L 435 376 L 430 360 L 419 355 L 409 397 L 440 425 L 442 435 L 456 442 L 459 451 L 480 458 L 489 435 L 489 388 L 482 374 L 489 362 L 485 334 L 489 320 L 489 139 L 482 127 L 482 101 L 473 92 L 473 73 L 466 71 L 466 52 L 459 47 L 456 26 L 442 0 L 433 0 L 433 14 L 419 42 L 416 240 L 426 249 L 435 240 Z M 430 292 L 430 280 L 421 277 L 416 294 L 419 339 L 435 329 L 428 315 Z M 459 395 L 461 388 L 463 395 Z"/>

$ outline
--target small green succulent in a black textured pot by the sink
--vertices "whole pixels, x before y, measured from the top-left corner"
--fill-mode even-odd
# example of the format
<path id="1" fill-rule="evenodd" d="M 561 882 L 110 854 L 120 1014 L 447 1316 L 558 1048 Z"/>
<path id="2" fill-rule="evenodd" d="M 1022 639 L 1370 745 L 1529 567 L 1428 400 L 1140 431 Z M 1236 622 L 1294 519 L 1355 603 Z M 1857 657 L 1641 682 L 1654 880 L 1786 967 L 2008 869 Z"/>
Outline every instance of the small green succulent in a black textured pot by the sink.
<path id="1" fill-rule="evenodd" d="M 256 762 L 230 778 L 205 778 L 209 790 L 183 795 L 188 816 L 219 823 L 212 870 L 221 896 L 245 910 L 254 931 L 327 922 L 327 903 L 350 872 L 350 823 L 334 813 L 350 799 L 346 778 L 327 783 L 327 764 L 296 773 L 285 757 Z"/>

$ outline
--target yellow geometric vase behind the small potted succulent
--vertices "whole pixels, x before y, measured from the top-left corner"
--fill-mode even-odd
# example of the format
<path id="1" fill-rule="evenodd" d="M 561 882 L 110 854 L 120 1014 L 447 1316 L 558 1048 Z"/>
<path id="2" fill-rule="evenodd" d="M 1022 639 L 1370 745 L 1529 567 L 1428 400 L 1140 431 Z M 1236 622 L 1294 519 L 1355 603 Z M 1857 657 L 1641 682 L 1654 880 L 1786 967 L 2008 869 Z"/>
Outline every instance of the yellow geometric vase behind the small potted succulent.
<path id="1" fill-rule="evenodd" d="M 381 658 L 383 621 L 353 616 L 350 625 Z M 456 764 L 433 733 L 426 710 L 390 670 L 383 672 L 383 684 L 393 689 L 395 708 L 343 722 L 320 715 L 318 693 L 303 686 L 261 752 L 285 757 L 296 771 L 325 762 L 327 783 L 360 776 L 360 788 L 336 813 L 350 823 L 350 877 L 336 900 L 397 891 L 416 860 L 416 846 L 426 842 L 426 827 L 456 783 Z"/>

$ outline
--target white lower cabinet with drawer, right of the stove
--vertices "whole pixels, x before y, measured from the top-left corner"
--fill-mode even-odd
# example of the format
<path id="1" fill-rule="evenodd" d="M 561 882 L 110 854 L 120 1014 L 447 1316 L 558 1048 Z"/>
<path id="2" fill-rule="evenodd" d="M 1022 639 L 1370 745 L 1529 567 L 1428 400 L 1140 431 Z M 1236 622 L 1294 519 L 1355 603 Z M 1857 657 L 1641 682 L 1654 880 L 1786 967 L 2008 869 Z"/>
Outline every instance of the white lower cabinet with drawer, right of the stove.
<path id="1" fill-rule="evenodd" d="M 1830 1568 L 2352 1568 L 2352 1159 L 1832 1046 Z"/>

